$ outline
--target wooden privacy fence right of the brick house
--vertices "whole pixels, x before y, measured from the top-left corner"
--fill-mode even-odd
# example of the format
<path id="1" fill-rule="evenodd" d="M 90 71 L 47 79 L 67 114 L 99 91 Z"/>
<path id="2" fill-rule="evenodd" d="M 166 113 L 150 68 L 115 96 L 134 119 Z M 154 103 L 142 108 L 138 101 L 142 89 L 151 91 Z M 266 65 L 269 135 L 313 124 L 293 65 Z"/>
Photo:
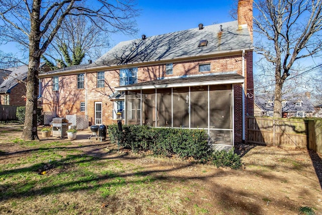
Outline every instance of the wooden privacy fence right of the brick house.
<path id="1" fill-rule="evenodd" d="M 322 153 L 322 120 L 248 117 L 248 142 Z"/>

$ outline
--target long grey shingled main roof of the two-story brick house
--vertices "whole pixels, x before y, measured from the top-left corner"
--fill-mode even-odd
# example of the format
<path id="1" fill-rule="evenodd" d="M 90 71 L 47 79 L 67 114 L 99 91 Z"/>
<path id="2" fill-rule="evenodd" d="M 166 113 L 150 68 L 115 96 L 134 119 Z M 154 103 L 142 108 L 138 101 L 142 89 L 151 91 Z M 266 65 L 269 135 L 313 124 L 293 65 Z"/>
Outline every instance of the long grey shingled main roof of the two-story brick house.
<path id="1" fill-rule="evenodd" d="M 201 40 L 207 40 L 206 46 L 198 46 Z M 254 47 L 247 27 L 238 28 L 238 22 L 232 21 L 204 26 L 202 30 L 193 28 L 145 39 L 123 41 L 91 64 L 65 67 L 47 74 L 84 72 L 87 69 L 106 66 L 135 66 L 142 62 L 198 58 L 251 49 Z"/>

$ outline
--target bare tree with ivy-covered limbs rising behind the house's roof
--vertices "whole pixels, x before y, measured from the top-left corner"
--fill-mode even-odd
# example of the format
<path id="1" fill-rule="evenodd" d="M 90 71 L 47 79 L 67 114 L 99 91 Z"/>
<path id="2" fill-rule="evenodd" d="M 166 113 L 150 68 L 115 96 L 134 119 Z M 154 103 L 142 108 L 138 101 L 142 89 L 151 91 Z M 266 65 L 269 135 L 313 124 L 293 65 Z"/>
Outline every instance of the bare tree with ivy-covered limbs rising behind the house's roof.
<path id="1" fill-rule="evenodd" d="M 96 27 L 99 22 L 84 16 L 67 17 L 43 56 L 66 66 L 79 65 L 86 56 L 98 58 L 109 47 L 109 35 Z"/>

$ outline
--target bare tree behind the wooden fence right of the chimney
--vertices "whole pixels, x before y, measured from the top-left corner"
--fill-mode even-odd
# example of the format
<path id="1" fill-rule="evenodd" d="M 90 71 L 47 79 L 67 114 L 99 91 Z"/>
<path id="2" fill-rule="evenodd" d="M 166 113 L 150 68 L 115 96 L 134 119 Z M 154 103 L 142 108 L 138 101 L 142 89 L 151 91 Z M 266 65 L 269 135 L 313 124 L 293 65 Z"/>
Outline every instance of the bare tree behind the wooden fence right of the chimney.
<path id="1" fill-rule="evenodd" d="M 282 87 L 295 62 L 322 50 L 322 0 L 260 0 L 254 8 L 255 50 L 274 67 L 274 117 L 282 114 Z"/>

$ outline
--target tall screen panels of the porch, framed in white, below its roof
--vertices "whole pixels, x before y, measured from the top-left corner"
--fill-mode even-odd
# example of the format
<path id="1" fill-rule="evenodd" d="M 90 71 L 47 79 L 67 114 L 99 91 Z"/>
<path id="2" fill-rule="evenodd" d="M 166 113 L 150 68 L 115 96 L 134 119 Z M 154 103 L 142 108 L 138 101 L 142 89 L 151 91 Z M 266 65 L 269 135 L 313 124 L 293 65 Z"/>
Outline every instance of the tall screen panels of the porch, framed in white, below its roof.
<path id="1" fill-rule="evenodd" d="M 233 145 L 231 84 L 131 90 L 125 101 L 126 124 L 205 129 L 212 144 Z"/>

